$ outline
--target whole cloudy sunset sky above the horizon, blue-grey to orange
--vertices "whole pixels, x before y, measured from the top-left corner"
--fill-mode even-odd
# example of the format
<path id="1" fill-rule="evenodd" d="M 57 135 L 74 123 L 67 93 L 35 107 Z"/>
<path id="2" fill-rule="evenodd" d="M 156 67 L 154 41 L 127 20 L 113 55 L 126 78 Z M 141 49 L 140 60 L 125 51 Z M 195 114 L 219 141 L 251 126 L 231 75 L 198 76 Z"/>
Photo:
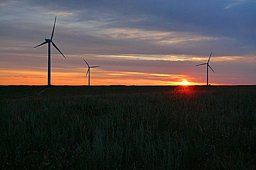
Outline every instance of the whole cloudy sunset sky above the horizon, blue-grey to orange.
<path id="1" fill-rule="evenodd" d="M 256 85 L 256 0 L 0 0 L 0 85 Z"/>

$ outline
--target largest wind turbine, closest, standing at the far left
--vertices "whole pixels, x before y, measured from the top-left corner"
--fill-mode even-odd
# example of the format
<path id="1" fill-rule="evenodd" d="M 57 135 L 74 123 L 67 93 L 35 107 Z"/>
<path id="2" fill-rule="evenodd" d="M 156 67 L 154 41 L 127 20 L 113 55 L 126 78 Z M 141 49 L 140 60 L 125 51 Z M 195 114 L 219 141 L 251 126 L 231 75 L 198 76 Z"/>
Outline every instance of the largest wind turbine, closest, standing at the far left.
<path id="1" fill-rule="evenodd" d="M 48 85 L 51 85 L 51 43 L 61 53 L 61 55 L 63 55 L 63 53 L 58 49 L 58 47 L 53 42 L 53 33 L 54 33 L 55 23 L 56 23 L 56 17 L 55 17 L 55 21 L 54 21 L 54 26 L 53 26 L 53 32 L 52 32 L 51 39 L 46 39 L 45 38 L 44 39 L 45 41 L 43 43 L 34 47 L 34 48 L 37 48 L 41 45 L 44 45 L 44 44 L 48 43 Z M 63 55 L 63 57 L 66 58 L 64 55 Z"/>

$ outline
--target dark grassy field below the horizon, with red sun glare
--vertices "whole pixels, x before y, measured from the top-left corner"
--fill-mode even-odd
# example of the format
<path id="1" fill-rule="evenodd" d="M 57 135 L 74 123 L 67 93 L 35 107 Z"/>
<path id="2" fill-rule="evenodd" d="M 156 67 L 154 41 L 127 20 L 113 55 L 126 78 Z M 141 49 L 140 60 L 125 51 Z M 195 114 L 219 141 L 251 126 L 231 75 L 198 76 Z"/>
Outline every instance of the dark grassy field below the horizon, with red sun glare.
<path id="1" fill-rule="evenodd" d="M 46 88 L 0 87 L 1 169 L 256 169 L 256 86 Z"/>

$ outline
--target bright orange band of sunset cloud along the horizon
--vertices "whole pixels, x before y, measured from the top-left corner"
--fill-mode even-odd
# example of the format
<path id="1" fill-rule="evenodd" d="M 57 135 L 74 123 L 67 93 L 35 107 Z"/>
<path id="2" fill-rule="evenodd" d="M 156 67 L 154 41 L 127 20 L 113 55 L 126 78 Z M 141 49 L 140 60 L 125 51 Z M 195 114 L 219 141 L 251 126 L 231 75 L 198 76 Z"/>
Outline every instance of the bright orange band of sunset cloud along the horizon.
<path id="1" fill-rule="evenodd" d="M 47 71 L 0 70 L 1 85 L 46 85 Z M 51 74 L 52 85 L 87 85 L 86 71 Z M 193 79 L 187 75 L 154 74 L 142 72 L 118 72 L 91 70 L 91 85 L 179 85 L 180 81 Z M 194 84 L 194 83 L 191 83 Z"/>

